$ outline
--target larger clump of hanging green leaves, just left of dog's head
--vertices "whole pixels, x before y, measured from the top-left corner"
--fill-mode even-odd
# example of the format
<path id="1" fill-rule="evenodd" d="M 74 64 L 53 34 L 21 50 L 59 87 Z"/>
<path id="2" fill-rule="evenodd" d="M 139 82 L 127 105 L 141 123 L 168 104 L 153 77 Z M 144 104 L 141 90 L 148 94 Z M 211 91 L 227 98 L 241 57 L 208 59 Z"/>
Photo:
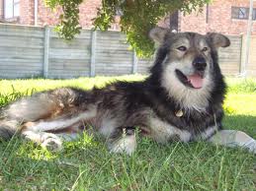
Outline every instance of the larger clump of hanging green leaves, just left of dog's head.
<path id="1" fill-rule="evenodd" d="M 108 30 L 115 16 L 121 15 L 121 29 L 138 56 L 148 57 L 153 53 L 153 42 L 148 32 L 165 16 L 176 10 L 190 13 L 202 8 L 209 0 L 103 0 L 95 19 L 95 28 Z"/>

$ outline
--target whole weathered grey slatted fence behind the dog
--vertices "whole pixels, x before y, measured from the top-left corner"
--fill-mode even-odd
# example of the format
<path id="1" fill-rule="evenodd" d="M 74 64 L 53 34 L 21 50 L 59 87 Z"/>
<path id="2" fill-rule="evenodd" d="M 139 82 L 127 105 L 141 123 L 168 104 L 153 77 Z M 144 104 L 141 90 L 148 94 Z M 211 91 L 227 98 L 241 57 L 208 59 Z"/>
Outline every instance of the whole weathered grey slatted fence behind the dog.
<path id="1" fill-rule="evenodd" d="M 229 37 L 232 45 L 220 50 L 219 63 L 224 74 L 236 75 L 243 37 Z M 136 57 L 121 32 L 83 30 L 74 40 L 64 41 L 48 27 L 0 25 L 0 78 L 146 74 L 151 64 L 151 60 Z M 255 62 L 251 65 L 256 71 Z"/>

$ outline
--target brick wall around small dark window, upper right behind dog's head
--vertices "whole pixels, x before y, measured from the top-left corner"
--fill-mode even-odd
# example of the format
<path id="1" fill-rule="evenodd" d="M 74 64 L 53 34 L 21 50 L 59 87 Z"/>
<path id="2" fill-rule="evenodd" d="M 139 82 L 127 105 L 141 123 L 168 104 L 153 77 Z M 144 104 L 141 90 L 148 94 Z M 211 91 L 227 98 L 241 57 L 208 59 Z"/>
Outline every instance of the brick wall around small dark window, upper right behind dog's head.
<path id="1" fill-rule="evenodd" d="M 209 20 L 207 23 L 207 7 L 203 13 L 192 13 L 180 17 L 180 30 L 191 32 L 222 32 L 226 34 L 246 33 L 248 20 L 231 19 L 231 7 L 247 7 L 249 1 L 244 0 L 213 0 L 209 5 Z M 256 8 L 256 2 L 254 2 Z M 256 21 L 253 22 L 253 34 L 256 34 Z"/>

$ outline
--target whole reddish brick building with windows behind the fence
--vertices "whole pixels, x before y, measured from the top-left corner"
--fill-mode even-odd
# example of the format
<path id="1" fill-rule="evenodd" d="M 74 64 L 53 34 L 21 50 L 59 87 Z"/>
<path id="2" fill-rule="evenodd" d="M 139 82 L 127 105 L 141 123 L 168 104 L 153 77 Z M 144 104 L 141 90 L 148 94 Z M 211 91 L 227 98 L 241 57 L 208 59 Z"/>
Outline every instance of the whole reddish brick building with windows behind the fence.
<path id="1" fill-rule="evenodd" d="M 92 27 L 97 7 L 101 0 L 86 0 L 80 6 L 80 24 Z M 161 26 L 185 32 L 222 32 L 226 34 L 245 33 L 249 13 L 249 0 L 213 0 L 202 13 L 174 13 L 160 22 Z M 59 12 L 52 13 L 43 5 L 43 0 L 0 0 L 0 21 L 22 25 L 55 25 Z M 253 34 L 256 34 L 256 2 L 253 11 Z M 113 29 L 119 29 L 113 25 Z"/>

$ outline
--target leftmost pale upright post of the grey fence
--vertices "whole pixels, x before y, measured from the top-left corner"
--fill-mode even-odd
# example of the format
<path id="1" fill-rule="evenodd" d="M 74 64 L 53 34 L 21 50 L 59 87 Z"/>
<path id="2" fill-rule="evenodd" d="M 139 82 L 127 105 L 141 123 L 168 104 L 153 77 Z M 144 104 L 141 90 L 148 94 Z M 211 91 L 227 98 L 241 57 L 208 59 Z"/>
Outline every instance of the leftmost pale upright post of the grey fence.
<path id="1" fill-rule="evenodd" d="M 44 27 L 44 51 L 43 51 L 43 77 L 48 77 L 48 46 L 49 46 L 49 27 Z"/>

